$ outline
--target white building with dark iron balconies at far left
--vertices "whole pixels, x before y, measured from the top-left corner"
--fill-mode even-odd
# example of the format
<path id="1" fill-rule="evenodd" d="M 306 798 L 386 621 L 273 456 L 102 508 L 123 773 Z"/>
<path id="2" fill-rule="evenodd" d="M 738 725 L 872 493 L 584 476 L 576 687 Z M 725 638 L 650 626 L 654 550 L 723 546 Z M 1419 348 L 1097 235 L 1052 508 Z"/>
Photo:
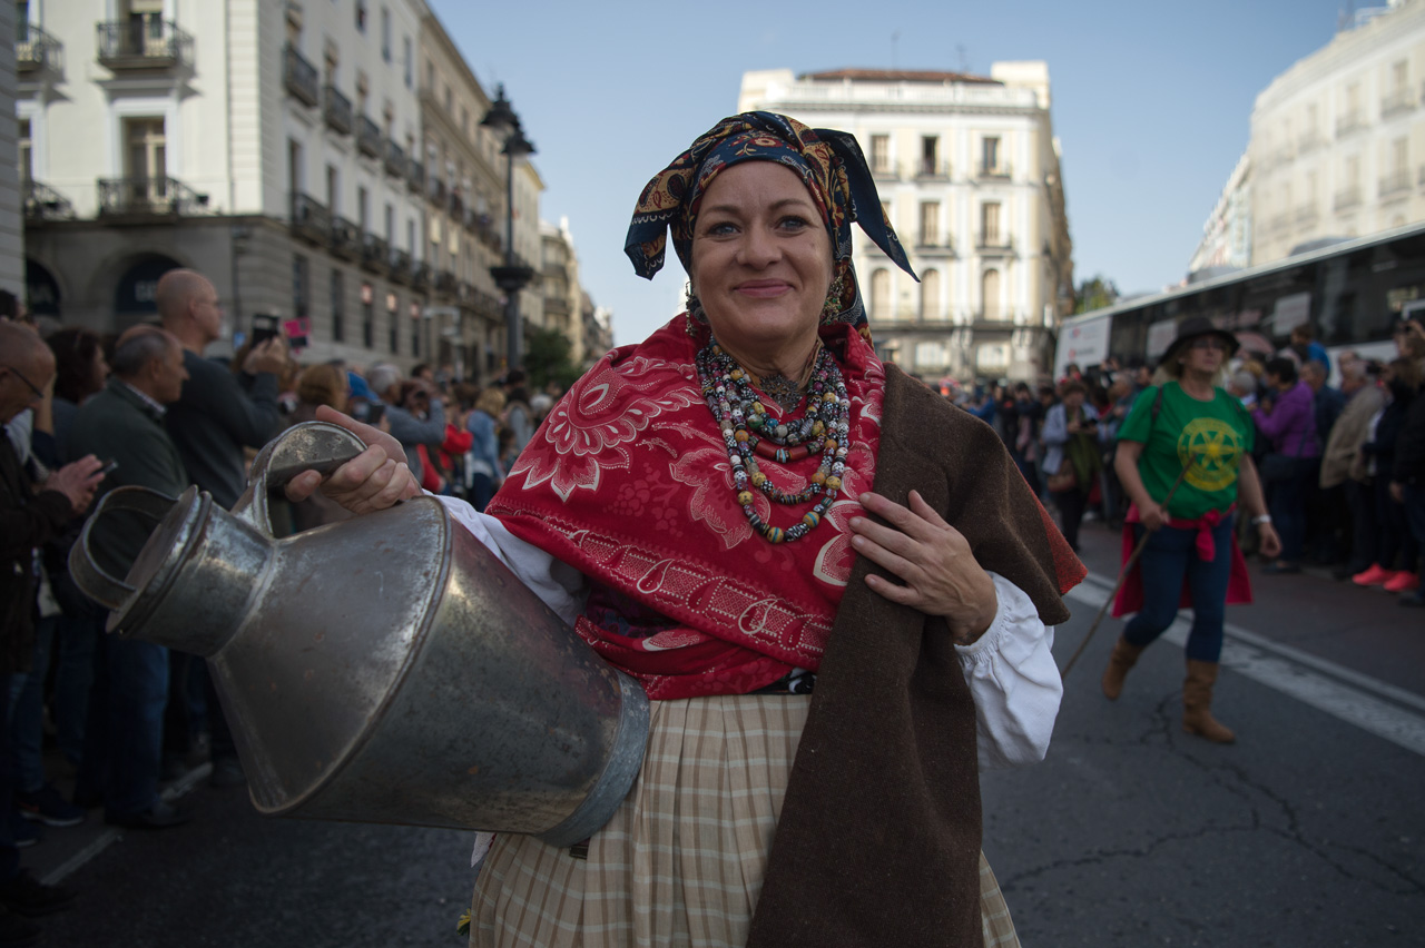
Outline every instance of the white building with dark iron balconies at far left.
<path id="1" fill-rule="evenodd" d="M 44 50 L 19 104 L 38 312 L 120 332 L 190 266 L 231 342 L 272 315 L 308 360 L 428 357 L 419 0 L 21 9 Z"/>

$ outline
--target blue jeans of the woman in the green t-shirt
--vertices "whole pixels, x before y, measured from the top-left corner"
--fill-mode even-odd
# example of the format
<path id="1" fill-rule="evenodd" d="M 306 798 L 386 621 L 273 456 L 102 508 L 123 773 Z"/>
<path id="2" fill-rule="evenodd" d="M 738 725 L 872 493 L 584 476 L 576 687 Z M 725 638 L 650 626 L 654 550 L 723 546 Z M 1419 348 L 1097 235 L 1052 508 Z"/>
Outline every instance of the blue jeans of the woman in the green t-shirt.
<path id="1" fill-rule="evenodd" d="M 1197 531 L 1161 527 L 1143 547 L 1139 574 L 1143 576 L 1143 611 L 1123 629 L 1131 645 L 1150 645 L 1177 618 L 1183 582 L 1193 595 L 1193 631 L 1187 636 L 1187 658 L 1216 662 L 1223 653 L 1223 622 L 1227 618 L 1227 581 L 1233 571 L 1233 520 L 1213 528 L 1217 548 L 1211 562 L 1197 557 Z M 1136 539 L 1143 527 L 1134 527 Z"/>

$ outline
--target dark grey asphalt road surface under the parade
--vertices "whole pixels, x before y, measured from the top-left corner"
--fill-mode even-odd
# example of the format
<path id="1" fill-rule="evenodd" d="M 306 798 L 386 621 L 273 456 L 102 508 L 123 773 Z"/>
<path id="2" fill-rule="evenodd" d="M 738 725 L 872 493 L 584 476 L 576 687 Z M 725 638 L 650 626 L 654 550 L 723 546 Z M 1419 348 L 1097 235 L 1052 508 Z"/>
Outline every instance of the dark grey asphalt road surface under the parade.
<path id="1" fill-rule="evenodd" d="M 1060 665 L 1117 562 L 1107 531 L 1083 538 L 1094 581 L 1057 631 Z M 1109 619 L 1045 763 L 983 776 L 985 851 L 1025 945 L 1425 945 L 1425 615 L 1322 571 L 1254 582 L 1258 604 L 1228 611 L 1214 705 L 1234 746 L 1181 732 L 1170 641 L 1119 702 L 1099 693 Z M 44 944 L 463 944 L 469 834 L 262 818 L 194 776 L 185 827 L 91 816 L 26 851 L 80 892 Z"/>

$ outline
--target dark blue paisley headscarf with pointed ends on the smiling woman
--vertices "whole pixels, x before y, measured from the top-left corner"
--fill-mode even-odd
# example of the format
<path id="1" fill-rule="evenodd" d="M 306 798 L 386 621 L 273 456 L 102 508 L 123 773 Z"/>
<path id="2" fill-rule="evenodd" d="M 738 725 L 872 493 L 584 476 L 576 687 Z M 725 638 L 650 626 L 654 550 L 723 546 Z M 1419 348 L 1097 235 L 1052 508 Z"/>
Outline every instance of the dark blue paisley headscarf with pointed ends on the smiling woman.
<path id="1" fill-rule="evenodd" d="M 896 266 L 915 276 L 891 222 L 881 209 L 876 184 L 854 135 L 808 128 L 775 112 L 724 118 L 644 186 L 628 225 L 624 252 L 638 276 L 663 268 L 668 231 L 683 268 L 693 272 L 693 231 L 703 195 L 718 174 L 744 161 L 775 161 L 795 171 L 821 211 L 832 248 L 832 293 L 824 322 L 851 323 L 866 336 L 866 309 L 851 266 L 851 223 Z"/>

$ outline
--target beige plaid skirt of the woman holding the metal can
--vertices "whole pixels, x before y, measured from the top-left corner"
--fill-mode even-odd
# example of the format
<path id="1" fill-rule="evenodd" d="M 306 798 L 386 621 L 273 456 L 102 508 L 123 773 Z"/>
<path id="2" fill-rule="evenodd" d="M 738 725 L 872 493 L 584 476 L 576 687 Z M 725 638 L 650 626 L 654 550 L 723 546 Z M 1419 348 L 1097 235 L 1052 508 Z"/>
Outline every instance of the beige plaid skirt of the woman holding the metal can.
<path id="1" fill-rule="evenodd" d="M 741 948 L 809 696 L 653 702 L 643 771 L 587 860 L 502 836 L 470 907 L 473 948 Z M 986 947 L 1016 947 L 980 857 Z"/>

